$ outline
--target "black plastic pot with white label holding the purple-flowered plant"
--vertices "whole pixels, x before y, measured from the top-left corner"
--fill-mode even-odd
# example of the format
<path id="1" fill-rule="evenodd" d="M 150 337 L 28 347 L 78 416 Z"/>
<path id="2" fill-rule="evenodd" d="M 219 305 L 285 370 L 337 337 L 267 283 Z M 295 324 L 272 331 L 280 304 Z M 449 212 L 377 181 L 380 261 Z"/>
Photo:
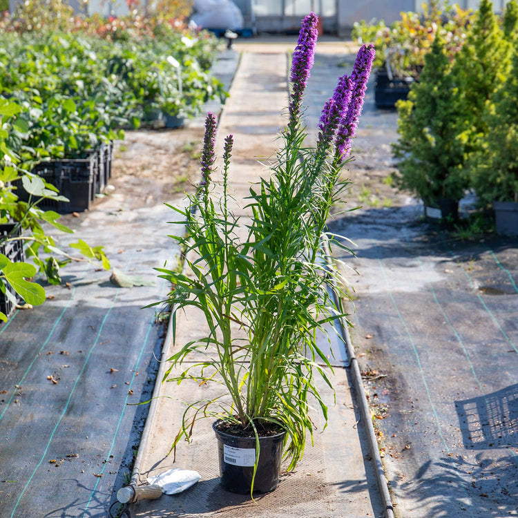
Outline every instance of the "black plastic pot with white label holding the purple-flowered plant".
<path id="1" fill-rule="evenodd" d="M 250 492 L 253 464 L 256 461 L 256 438 L 236 437 L 220 432 L 215 421 L 212 428 L 218 438 L 220 477 L 222 486 L 242 495 Z M 259 462 L 253 491 L 267 493 L 279 485 L 280 461 L 286 432 L 259 438 Z"/>

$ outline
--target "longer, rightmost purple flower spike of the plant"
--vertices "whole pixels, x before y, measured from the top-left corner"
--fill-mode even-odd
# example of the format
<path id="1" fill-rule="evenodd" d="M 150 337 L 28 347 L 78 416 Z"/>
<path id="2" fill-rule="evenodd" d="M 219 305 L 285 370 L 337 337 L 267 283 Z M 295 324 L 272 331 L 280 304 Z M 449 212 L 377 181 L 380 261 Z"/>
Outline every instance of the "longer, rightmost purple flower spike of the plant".
<path id="1" fill-rule="evenodd" d="M 347 108 L 347 113 L 343 116 L 340 127 L 336 134 L 336 156 L 343 160 L 351 152 L 352 138 L 358 127 L 358 119 L 363 108 L 363 99 L 367 89 L 372 61 L 376 51 L 372 44 L 362 45 L 356 56 L 354 68 L 351 75 L 352 96 Z"/>

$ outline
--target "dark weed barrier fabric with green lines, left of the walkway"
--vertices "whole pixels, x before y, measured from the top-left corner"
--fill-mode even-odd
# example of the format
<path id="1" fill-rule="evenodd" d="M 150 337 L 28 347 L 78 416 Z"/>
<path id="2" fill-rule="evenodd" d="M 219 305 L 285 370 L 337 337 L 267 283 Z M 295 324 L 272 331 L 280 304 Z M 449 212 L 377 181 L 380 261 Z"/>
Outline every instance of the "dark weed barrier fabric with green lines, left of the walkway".
<path id="1" fill-rule="evenodd" d="M 141 308 L 166 295 L 153 267 L 178 250 L 164 244 L 170 209 L 121 215 L 118 201 L 79 236 L 108 243 L 113 268 L 154 285 L 116 287 L 111 272 L 76 263 L 62 271 L 69 287 L 46 287 L 44 305 L 0 327 L 2 517 L 106 517 L 131 474 L 148 405 L 128 403 L 151 397 L 165 332 L 158 308 Z"/>

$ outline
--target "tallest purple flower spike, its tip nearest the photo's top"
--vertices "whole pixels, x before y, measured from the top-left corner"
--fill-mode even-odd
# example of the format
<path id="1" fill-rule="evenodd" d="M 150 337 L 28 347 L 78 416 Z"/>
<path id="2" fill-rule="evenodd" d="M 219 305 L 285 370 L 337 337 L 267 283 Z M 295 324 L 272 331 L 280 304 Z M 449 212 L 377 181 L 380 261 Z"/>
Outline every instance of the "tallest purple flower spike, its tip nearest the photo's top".
<path id="1" fill-rule="evenodd" d="M 300 104 L 309 78 L 309 70 L 315 61 L 315 45 L 318 37 L 317 29 L 318 17 L 314 12 L 310 12 L 303 19 L 300 32 L 298 33 L 297 46 L 291 61 L 291 81 L 292 93 L 289 100 L 289 126 L 294 128 L 300 113 Z"/>

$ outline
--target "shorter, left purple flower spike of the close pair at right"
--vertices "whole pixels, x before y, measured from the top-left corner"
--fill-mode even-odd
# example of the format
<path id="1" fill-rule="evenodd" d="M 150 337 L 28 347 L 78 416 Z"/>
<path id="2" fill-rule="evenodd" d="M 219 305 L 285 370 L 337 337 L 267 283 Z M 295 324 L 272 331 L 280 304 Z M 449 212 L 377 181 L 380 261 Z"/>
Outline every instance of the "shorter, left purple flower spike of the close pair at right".
<path id="1" fill-rule="evenodd" d="M 344 75 L 338 79 L 333 97 L 327 99 L 324 105 L 322 115 L 320 115 L 320 123 L 318 124 L 318 142 L 316 144 L 317 153 L 325 153 L 329 144 L 332 142 L 336 133 L 338 124 L 343 119 L 347 106 L 351 101 L 352 80 Z"/>

